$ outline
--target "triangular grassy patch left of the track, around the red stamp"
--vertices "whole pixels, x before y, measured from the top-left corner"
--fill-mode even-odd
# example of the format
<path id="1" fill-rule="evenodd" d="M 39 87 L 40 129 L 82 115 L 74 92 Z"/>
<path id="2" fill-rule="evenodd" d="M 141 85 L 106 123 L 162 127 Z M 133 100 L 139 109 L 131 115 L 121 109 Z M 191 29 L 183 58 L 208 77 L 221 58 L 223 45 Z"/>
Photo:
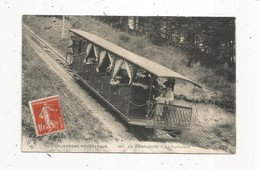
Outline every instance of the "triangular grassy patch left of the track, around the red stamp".
<path id="1" fill-rule="evenodd" d="M 67 90 L 62 79 L 48 69 L 45 61 L 38 56 L 25 39 L 23 39 L 22 51 L 22 84 L 23 135 L 28 138 L 36 138 L 38 141 L 56 142 L 56 144 L 64 139 L 83 141 L 106 139 L 108 132 L 102 129 L 102 123 L 94 118 L 90 111 L 81 105 L 81 101 Z M 53 95 L 59 95 L 66 130 L 36 137 L 28 102 Z M 84 123 L 82 120 L 88 121 Z M 87 131 L 86 128 L 88 128 Z"/>

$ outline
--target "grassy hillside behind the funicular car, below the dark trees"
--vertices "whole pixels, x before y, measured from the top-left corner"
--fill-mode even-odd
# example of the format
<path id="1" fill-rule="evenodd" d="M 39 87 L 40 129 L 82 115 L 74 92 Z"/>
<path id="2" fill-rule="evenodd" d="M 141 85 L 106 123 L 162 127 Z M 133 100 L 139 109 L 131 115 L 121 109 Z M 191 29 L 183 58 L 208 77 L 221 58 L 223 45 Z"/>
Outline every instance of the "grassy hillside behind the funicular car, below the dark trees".
<path id="1" fill-rule="evenodd" d="M 174 47 L 155 46 L 145 36 L 135 36 L 129 35 L 126 32 L 120 32 L 91 17 L 67 17 L 64 37 L 61 36 L 62 20 L 60 18 L 25 16 L 23 19 L 24 23 L 37 35 L 48 41 L 64 55 L 67 46 L 68 29 L 81 29 L 204 84 L 206 89 L 196 89 L 196 92 L 193 93 L 194 89 L 190 84 L 184 82 L 176 83 L 178 85 L 176 85 L 175 96 L 180 99 L 180 102 L 192 105 L 195 113 L 193 128 L 190 132 L 185 133 L 182 142 L 204 148 L 222 149 L 231 153 L 235 152 L 235 115 L 227 112 L 226 109 L 209 104 L 231 101 L 230 96 L 232 98 L 232 95 L 235 95 L 235 85 L 225 82 L 221 77 L 217 77 L 211 69 L 204 68 L 199 63 L 193 65 L 191 68 L 187 68 L 185 66 L 187 57 L 184 52 Z M 222 89 L 215 90 L 210 84 L 219 85 Z M 229 92 L 224 93 L 225 90 Z M 187 103 L 181 99 L 187 99 L 188 101 L 194 99 L 199 104 Z"/>

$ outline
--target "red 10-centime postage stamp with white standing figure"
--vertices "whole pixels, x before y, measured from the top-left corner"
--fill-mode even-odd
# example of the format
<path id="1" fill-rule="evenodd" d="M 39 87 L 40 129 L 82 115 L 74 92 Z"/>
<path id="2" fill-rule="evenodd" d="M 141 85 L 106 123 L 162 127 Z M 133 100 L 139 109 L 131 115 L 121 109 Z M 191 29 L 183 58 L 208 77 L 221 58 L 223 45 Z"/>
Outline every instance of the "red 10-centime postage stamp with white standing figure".
<path id="1" fill-rule="evenodd" d="M 37 136 L 65 129 L 59 96 L 29 102 Z"/>

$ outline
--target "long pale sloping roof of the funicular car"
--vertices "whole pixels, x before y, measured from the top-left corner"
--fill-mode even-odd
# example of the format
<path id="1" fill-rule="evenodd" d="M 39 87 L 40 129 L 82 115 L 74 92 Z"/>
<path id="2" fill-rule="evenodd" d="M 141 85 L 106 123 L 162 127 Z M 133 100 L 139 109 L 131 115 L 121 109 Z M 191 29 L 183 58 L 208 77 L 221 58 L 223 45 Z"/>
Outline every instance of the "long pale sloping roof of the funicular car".
<path id="1" fill-rule="evenodd" d="M 131 63 L 149 71 L 150 73 L 158 76 L 158 77 L 167 77 L 167 78 L 177 78 L 177 79 L 183 79 L 186 81 L 191 82 L 192 84 L 201 87 L 198 83 L 190 80 L 189 78 L 169 69 L 166 68 L 158 63 L 155 63 L 151 60 L 148 60 L 144 57 L 141 57 L 137 54 L 134 54 L 122 47 L 119 47 L 109 41 L 106 41 L 94 34 L 82 31 L 82 30 L 77 30 L 77 29 L 70 29 L 70 31 L 80 35 L 83 38 L 88 39 L 89 41 L 92 41 L 94 44 L 97 44 L 100 47 L 103 47 L 104 49 L 130 61 Z"/>

